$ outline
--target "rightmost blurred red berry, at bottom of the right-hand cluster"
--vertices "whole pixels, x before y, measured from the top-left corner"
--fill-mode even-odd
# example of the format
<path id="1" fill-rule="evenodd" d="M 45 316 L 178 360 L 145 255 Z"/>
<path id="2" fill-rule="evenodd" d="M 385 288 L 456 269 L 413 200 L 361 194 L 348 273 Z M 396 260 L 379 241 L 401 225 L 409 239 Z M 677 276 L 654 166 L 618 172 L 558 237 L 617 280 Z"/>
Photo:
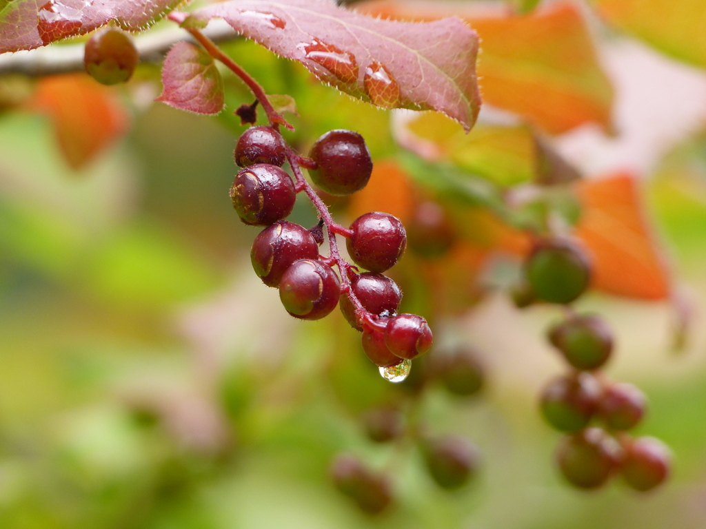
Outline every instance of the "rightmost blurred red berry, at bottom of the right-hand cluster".
<path id="1" fill-rule="evenodd" d="M 659 439 L 638 437 L 628 442 L 621 473 L 630 487 L 640 492 L 654 489 L 669 477 L 671 454 Z"/>

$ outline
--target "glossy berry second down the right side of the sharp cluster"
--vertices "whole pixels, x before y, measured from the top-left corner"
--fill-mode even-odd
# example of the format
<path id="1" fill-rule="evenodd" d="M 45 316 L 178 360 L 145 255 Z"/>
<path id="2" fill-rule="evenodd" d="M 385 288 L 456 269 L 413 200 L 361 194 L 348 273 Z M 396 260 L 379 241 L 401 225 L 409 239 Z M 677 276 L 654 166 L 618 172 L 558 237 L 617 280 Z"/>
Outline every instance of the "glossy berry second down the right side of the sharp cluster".
<path id="1" fill-rule="evenodd" d="M 356 265 L 370 272 L 385 272 L 405 252 L 407 233 L 402 222 L 388 213 L 371 212 L 351 224 L 346 247 Z"/>

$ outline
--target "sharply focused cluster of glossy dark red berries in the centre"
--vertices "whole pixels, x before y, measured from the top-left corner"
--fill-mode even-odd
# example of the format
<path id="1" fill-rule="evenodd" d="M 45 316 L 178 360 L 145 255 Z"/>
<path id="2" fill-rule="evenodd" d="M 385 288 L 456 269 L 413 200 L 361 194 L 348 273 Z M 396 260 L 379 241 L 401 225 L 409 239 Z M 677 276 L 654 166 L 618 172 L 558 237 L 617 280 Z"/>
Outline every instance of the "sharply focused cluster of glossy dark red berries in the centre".
<path id="1" fill-rule="evenodd" d="M 290 315 L 318 320 L 333 311 L 340 300 L 346 320 L 363 333 L 366 355 L 380 367 L 399 365 L 429 350 L 432 335 L 426 320 L 418 315 L 397 314 L 402 291 L 395 281 L 381 274 L 395 265 L 407 246 L 407 234 L 399 219 L 370 212 L 346 229 L 333 223 L 328 210 L 320 209 L 321 222 L 312 229 L 285 220 L 299 191 L 314 193 L 303 178 L 295 183 L 282 169 L 285 161 L 297 164 L 297 169 L 299 164 L 308 167 L 311 180 L 325 193 L 355 193 L 366 186 L 373 170 L 361 135 L 351 130 L 331 130 L 316 140 L 309 158 L 301 158 L 289 151 L 277 130 L 255 126 L 239 138 L 235 161 L 243 169 L 230 190 L 233 206 L 245 224 L 267 226 L 253 241 L 253 269 L 265 285 L 279 288 L 282 305 Z M 318 250 L 324 240 L 323 227 L 330 243 L 328 257 Z M 346 238 L 351 259 L 368 272 L 359 273 L 340 258 L 335 234 Z"/>

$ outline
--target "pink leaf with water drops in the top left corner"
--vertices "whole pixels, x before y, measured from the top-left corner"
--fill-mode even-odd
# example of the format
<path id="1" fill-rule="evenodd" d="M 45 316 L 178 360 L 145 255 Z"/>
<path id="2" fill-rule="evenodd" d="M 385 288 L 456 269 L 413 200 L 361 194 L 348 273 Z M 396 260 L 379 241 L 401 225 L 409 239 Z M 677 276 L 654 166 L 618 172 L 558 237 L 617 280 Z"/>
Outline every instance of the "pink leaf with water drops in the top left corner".
<path id="1" fill-rule="evenodd" d="M 172 11 L 180 2 L 0 0 L 0 53 L 38 48 L 66 37 L 84 35 L 111 20 L 124 30 L 142 30 Z"/>

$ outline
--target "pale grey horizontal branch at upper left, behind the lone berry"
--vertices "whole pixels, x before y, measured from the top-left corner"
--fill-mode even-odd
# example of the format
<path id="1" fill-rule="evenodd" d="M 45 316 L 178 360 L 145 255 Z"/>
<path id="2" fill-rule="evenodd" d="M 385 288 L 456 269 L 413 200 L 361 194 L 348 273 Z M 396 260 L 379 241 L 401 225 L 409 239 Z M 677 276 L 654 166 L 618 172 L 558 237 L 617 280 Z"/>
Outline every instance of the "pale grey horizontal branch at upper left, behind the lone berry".
<path id="1" fill-rule="evenodd" d="M 239 38 L 225 20 L 213 20 L 208 28 L 203 30 L 203 33 L 215 42 Z M 184 33 L 184 30 L 177 28 L 134 37 L 135 46 L 140 54 L 140 62 L 150 63 L 162 61 L 167 51 L 182 40 L 196 42 L 193 37 Z M 0 75 L 22 73 L 38 77 L 83 71 L 83 47 L 82 42 L 0 54 Z"/>

